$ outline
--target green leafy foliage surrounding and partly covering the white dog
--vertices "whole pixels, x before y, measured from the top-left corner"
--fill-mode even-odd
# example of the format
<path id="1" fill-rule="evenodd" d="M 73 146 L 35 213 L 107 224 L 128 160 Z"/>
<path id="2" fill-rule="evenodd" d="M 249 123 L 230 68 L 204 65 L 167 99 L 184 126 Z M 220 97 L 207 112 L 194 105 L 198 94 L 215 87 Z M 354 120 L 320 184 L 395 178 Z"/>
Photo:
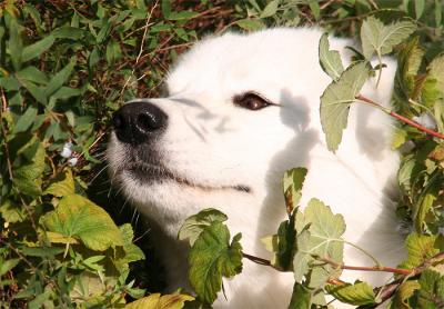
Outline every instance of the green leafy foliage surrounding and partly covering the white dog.
<path id="1" fill-rule="evenodd" d="M 300 24 L 361 38 L 363 52 L 352 49 L 356 61 L 349 68 L 330 49 L 327 34 L 320 41 L 320 63 L 332 78 L 321 99 L 321 120 L 329 148 L 336 150 L 347 110 L 356 102 L 398 120 L 424 124 L 424 118 L 431 119 L 431 129 L 444 133 L 442 12 L 441 1 L 418 0 L 3 1 L 0 306 L 123 307 L 141 298 L 131 306 L 182 308 L 193 300 L 183 293 L 142 298 L 145 291 L 129 276 L 131 262 L 144 258 L 133 230 L 117 226 L 89 189 L 102 169 L 100 149 L 111 113 L 129 99 L 158 94 L 168 64 L 196 38 Z M 386 110 L 359 96 L 369 77 L 384 73 L 382 56 L 392 51 L 398 70 L 394 110 Z M 374 67 L 373 54 L 379 58 Z M 341 116 L 340 126 L 331 114 Z M 443 306 L 443 147 L 438 137 L 397 123 L 397 215 L 415 231 L 406 239 L 408 257 L 397 268 L 398 278 L 385 287 L 335 285 L 346 222 L 315 199 L 301 211 L 306 170 L 285 175 L 289 218 L 263 241 L 274 252 L 270 265 L 295 273 L 291 308 L 323 307 L 325 293 L 356 306 L 374 307 L 389 298 L 393 308 Z M 223 288 L 222 277 L 242 269 L 240 235 L 230 238 L 225 220 L 214 209 L 204 211 L 180 233 L 190 240 L 190 281 L 205 306 Z M 198 262 L 209 270 L 206 277 L 193 268 Z"/>

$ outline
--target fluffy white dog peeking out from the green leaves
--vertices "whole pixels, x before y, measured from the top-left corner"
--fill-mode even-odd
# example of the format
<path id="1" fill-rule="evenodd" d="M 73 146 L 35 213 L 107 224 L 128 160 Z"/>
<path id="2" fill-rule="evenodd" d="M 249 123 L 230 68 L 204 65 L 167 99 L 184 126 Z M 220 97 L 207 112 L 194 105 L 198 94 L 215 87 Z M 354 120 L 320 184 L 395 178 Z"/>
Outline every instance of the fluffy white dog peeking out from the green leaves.
<path id="1" fill-rule="evenodd" d="M 354 104 L 339 151 L 326 149 L 319 107 L 331 80 L 319 64 L 321 34 L 272 29 L 205 39 L 169 74 L 167 98 L 133 100 L 114 114 L 111 175 L 150 220 L 171 289 L 186 286 L 186 245 L 176 240 L 178 229 L 203 208 L 228 215 L 245 253 L 270 258 L 260 239 L 286 217 L 281 179 L 293 167 L 309 169 L 303 206 L 323 200 L 344 216 L 346 240 L 386 266 L 401 261 L 393 124 L 379 110 Z M 331 39 L 342 54 L 351 43 Z M 389 104 L 395 64 L 384 62 L 380 87 L 370 80 L 362 93 Z M 356 249 L 345 246 L 344 255 L 347 265 L 373 266 Z M 389 279 L 355 271 L 342 278 Z M 224 282 L 228 299 L 216 306 L 285 308 L 292 285 L 292 273 L 244 260 L 243 272 Z"/>

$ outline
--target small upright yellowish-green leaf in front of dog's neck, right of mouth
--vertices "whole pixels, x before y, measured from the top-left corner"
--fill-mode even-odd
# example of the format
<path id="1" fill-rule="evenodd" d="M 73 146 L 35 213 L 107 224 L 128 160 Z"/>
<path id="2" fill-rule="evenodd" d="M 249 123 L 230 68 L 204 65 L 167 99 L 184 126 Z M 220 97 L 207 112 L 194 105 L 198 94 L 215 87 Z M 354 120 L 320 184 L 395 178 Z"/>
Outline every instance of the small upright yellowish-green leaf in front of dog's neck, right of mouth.
<path id="1" fill-rule="evenodd" d="M 302 186 L 304 185 L 307 170 L 305 168 L 293 168 L 285 171 L 283 182 L 286 213 L 289 216 L 299 206 L 302 197 Z"/>

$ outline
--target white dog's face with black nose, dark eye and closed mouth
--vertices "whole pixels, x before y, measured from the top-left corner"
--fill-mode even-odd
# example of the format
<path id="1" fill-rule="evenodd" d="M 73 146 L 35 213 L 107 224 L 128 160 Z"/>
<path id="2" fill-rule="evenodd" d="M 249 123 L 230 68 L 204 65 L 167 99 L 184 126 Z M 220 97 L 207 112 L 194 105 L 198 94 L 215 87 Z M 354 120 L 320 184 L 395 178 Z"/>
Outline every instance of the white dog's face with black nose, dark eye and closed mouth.
<path id="1" fill-rule="evenodd" d="M 285 169 L 306 163 L 297 152 L 321 139 L 310 127 L 329 80 L 311 41 L 299 49 L 281 30 L 199 43 L 169 76 L 169 97 L 114 114 L 112 179 L 143 212 L 170 220 L 262 202 Z"/>

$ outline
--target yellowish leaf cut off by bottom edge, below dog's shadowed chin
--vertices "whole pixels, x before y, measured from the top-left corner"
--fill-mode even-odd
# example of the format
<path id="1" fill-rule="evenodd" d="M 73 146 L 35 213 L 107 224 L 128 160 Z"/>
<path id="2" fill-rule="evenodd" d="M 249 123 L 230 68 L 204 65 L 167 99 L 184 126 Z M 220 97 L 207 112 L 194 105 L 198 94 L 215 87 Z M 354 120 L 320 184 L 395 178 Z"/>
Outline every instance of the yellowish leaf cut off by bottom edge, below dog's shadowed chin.
<path id="1" fill-rule="evenodd" d="M 181 309 L 185 301 L 194 300 L 189 295 L 163 295 L 152 293 L 148 297 L 141 298 L 133 302 L 128 303 L 125 309 Z"/>

